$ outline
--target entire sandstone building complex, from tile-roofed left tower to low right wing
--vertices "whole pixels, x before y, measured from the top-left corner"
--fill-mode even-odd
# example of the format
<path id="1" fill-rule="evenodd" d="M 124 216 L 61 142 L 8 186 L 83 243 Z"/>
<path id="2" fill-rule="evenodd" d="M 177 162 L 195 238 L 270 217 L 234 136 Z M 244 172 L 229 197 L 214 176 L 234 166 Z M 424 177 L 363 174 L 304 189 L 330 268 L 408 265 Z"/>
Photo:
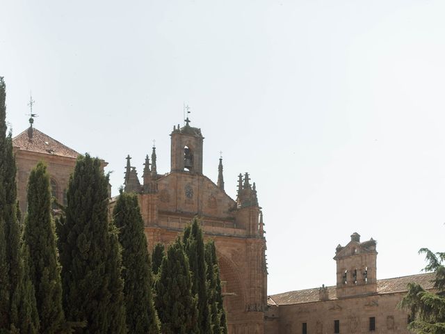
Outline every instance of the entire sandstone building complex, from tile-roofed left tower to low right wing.
<path id="1" fill-rule="evenodd" d="M 200 218 L 204 237 L 216 244 L 230 334 L 408 333 L 407 312 L 396 305 L 407 283 L 432 289 L 432 274 L 378 280 L 375 240 L 360 241 L 354 233 L 335 250 L 336 286 L 267 296 L 266 239 L 256 185 L 248 173 L 240 174 L 232 199 L 225 192 L 222 159 L 216 183 L 202 174 L 200 129 L 186 122 L 175 126 L 170 138 L 170 171 L 158 173 L 155 148 L 141 177 L 128 156 L 124 191 L 139 198 L 149 247 L 170 244 L 193 217 Z M 48 165 L 54 198 L 65 202 L 79 153 L 32 125 L 13 138 L 13 145 L 22 212 L 29 173 L 41 160 Z"/>

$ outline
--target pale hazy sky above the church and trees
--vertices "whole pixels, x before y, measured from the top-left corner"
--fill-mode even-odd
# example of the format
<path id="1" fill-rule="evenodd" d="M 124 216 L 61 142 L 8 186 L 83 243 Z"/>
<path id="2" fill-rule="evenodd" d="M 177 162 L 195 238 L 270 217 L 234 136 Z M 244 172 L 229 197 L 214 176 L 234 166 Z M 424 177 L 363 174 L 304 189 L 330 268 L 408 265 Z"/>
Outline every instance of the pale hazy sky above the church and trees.
<path id="1" fill-rule="evenodd" d="M 268 292 L 335 284 L 350 234 L 378 241 L 378 278 L 444 250 L 445 1 L 0 0 L 7 120 L 142 174 L 170 170 L 182 106 L 223 151 L 227 193 L 257 182 Z"/>

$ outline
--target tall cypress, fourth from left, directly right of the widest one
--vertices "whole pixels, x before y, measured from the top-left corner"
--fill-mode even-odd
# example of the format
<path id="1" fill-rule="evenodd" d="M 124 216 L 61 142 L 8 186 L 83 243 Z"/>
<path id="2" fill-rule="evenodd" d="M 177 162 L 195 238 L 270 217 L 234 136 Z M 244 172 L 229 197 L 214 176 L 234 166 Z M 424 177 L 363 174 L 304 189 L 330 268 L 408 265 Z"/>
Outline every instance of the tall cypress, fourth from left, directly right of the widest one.
<path id="1" fill-rule="evenodd" d="M 159 320 L 152 296 L 147 238 L 136 195 L 121 192 L 113 217 L 122 245 L 122 276 L 129 333 L 158 334 Z"/>

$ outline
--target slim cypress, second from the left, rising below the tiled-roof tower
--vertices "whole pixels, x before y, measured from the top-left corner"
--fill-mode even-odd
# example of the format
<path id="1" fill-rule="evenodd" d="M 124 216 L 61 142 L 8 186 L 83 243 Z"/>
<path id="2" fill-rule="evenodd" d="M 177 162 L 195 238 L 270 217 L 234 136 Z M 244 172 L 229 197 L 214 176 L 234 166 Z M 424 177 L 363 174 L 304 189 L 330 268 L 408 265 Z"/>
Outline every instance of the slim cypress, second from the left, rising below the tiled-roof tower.
<path id="1" fill-rule="evenodd" d="M 62 282 L 51 216 L 49 174 L 42 162 L 29 175 L 27 202 L 24 240 L 30 253 L 30 275 L 35 288 L 40 331 L 60 333 L 65 326 Z"/>

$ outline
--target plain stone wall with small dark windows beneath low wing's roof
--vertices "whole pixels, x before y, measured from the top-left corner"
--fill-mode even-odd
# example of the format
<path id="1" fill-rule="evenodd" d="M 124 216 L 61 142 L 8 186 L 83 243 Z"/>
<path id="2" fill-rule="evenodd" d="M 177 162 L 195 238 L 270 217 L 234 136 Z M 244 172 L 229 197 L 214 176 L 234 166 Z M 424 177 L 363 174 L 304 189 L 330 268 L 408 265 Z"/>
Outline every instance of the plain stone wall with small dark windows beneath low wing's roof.
<path id="1" fill-rule="evenodd" d="M 302 334 L 303 323 L 307 324 L 307 333 L 334 333 L 334 321 L 339 320 L 339 333 L 342 334 L 407 334 L 407 312 L 397 308 L 403 294 L 375 294 L 333 301 L 270 306 L 266 312 L 264 333 Z M 375 331 L 370 331 L 369 328 L 371 317 L 375 318 Z"/>

